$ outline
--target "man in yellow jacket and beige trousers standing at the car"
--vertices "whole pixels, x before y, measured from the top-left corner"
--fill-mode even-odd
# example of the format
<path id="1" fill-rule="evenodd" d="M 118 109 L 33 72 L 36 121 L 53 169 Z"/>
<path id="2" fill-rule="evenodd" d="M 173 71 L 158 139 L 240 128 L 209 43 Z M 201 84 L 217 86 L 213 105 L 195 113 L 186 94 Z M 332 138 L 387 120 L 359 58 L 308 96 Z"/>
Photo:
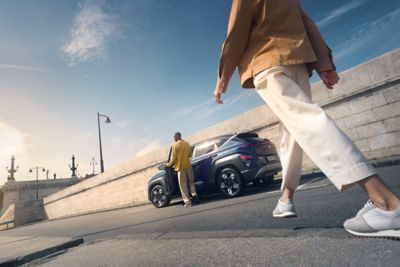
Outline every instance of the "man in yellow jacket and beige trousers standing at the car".
<path id="1" fill-rule="evenodd" d="M 197 199 L 196 187 L 194 185 L 194 175 L 192 165 L 190 164 L 190 157 L 192 156 L 192 149 L 190 144 L 185 140 L 182 140 L 180 132 L 174 134 L 175 144 L 172 146 L 172 159 L 167 164 L 167 167 L 174 166 L 175 171 L 178 172 L 179 188 L 181 190 L 182 199 L 185 203 L 185 207 L 190 208 L 192 201 L 190 193 L 194 199 Z"/>

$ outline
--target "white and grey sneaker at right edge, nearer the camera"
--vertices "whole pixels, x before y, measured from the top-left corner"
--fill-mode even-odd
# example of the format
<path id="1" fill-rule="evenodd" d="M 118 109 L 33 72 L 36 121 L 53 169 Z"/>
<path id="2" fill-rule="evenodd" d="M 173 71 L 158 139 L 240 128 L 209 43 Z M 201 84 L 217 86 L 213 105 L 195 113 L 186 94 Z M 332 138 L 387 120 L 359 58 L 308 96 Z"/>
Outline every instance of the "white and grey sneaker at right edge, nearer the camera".
<path id="1" fill-rule="evenodd" d="M 385 211 L 368 201 L 356 217 L 345 221 L 343 226 L 356 236 L 400 239 L 400 206 L 394 211 Z"/>

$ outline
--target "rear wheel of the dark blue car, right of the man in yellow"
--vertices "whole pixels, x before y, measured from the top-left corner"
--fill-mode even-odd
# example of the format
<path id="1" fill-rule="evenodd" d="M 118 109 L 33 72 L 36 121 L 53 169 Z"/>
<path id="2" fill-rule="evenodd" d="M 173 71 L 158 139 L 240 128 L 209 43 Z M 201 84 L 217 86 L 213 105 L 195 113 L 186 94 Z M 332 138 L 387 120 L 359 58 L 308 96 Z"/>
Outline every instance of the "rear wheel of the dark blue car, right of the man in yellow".
<path id="1" fill-rule="evenodd" d="M 217 186 L 225 197 L 233 198 L 243 193 L 246 184 L 237 170 L 224 168 L 218 172 Z"/>

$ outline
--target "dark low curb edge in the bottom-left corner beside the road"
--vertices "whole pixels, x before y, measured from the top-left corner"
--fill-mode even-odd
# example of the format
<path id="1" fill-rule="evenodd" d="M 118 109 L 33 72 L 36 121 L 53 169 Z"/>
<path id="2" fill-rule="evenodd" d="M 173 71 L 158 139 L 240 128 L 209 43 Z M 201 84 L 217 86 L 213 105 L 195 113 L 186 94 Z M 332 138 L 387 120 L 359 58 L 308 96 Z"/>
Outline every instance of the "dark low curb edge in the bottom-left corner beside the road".
<path id="1" fill-rule="evenodd" d="M 79 246 L 81 244 L 83 244 L 83 238 L 77 238 L 77 239 L 73 239 L 71 241 L 50 247 L 50 248 L 45 248 L 43 250 L 39 250 L 24 256 L 19 256 L 17 258 L 14 259 L 10 259 L 10 260 L 6 260 L 3 262 L 0 262 L 0 267 L 5 267 L 5 266 L 19 266 L 19 265 L 23 265 L 26 263 L 29 263 L 33 260 L 37 260 L 43 257 L 46 257 L 48 255 L 51 255 L 53 253 L 65 250 L 65 249 L 69 249 L 72 247 L 76 247 Z"/>

